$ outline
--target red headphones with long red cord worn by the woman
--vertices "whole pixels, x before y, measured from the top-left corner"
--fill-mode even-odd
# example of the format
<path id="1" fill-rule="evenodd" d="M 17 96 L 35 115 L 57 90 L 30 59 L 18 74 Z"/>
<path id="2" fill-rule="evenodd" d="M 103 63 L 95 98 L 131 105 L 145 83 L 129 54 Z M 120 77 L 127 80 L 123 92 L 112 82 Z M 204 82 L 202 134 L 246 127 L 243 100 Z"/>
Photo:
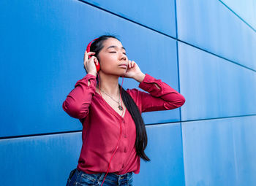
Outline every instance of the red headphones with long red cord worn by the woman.
<path id="1" fill-rule="evenodd" d="M 96 38 L 96 39 L 98 39 L 98 38 Z M 96 40 L 96 39 L 94 39 L 94 40 Z M 92 41 L 87 45 L 87 47 L 86 47 L 86 52 L 87 52 L 87 53 L 90 52 L 91 43 L 94 42 L 94 40 L 92 40 Z M 91 58 L 90 55 L 89 55 L 89 58 Z M 95 63 L 95 66 L 96 66 L 97 74 L 98 74 L 98 71 L 100 70 L 99 62 L 98 62 L 98 65 Z M 99 74 L 98 74 L 98 77 L 99 77 Z M 121 82 L 121 88 L 120 88 L 121 107 L 123 107 L 123 105 L 122 105 L 122 99 L 121 99 L 121 89 L 122 89 L 122 86 L 123 86 L 123 82 L 124 82 L 124 75 L 123 75 L 123 80 L 122 80 L 122 82 Z M 99 86 L 99 93 L 100 93 L 100 86 Z M 102 93 L 100 93 L 100 96 L 102 96 Z M 105 101 L 104 101 L 104 104 L 105 104 Z M 105 105 L 105 106 L 106 106 L 106 105 Z M 124 107 L 123 107 L 123 108 L 124 108 Z M 124 114 L 124 109 L 123 109 L 123 112 L 122 112 L 121 115 L 123 115 L 123 114 Z M 121 120 L 120 120 L 120 123 L 119 123 L 119 124 L 120 124 L 120 135 L 119 135 L 119 139 L 118 139 L 118 144 L 117 144 L 117 146 L 116 146 L 116 150 L 117 150 L 118 147 L 119 147 L 119 142 L 120 142 L 120 139 L 121 139 Z M 113 155 L 115 154 L 116 150 L 113 152 Z M 113 158 L 113 155 L 112 155 L 112 157 L 110 158 L 110 162 L 111 162 L 111 160 L 112 160 L 112 158 Z M 108 165 L 108 170 L 109 170 L 109 167 L 110 167 L 110 162 L 109 162 L 109 165 Z M 107 171 L 107 174 L 108 174 L 108 171 Z M 107 176 L 107 174 L 105 175 L 105 177 Z M 103 179 L 102 185 L 103 185 L 103 183 L 104 183 L 104 181 L 105 181 L 105 177 L 104 177 L 104 179 Z M 102 186 L 102 185 L 101 185 L 101 186 Z"/>

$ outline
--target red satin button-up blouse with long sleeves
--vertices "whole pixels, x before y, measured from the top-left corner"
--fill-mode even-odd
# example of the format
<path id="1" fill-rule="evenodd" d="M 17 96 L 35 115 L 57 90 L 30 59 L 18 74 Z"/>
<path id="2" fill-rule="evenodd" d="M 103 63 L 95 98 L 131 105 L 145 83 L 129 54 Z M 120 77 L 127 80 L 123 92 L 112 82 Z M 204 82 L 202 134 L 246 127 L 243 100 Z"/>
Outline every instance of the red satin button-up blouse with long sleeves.
<path id="1" fill-rule="evenodd" d="M 88 85 L 90 80 L 91 84 Z M 159 86 L 157 88 L 156 85 Z M 83 145 L 78 160 L 78 170 L 87 174 L 108 171 L 108 163 L 120 135 L 118 150 L 110 162 L 108 172 L 126 174 L 133 171 L 140 172 L 140 157 L 136 154 L 136 128 L 132 116 L 126 109 L 121 117 L 96 90 L 96 76 L 86 74 L 78 80 L 75 88 L 68 94 L 62 107 L 71 117 L 78 118 L 83 124 Z M 185 102 L 184 96 L 171 88 L 162 80 L 157 80 L 149 74 L 140 82 L 139 88 L 127 89 L 141 112 L 176 109 Z"/>

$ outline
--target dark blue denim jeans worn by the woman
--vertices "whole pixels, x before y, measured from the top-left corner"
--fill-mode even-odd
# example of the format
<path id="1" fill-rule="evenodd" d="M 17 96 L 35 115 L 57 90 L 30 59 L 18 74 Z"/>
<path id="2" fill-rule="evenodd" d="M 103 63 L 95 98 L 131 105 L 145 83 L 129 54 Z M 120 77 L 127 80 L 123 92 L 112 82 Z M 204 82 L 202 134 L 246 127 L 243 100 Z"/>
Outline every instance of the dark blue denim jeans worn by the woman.
<path id="1" fill-rule="evenodd" d="M 66 186 L 72 185 L 94 185 L 100 186 L 102 185 L 103 179 L 105 177 L 105 172 L 97 173 L 97 174 L 87 174 L 84 171 L 79 171 L 77 168 L 72 170 L 69 174 L 69 178 L 67 179 Z M 127 174 L 115 174 L 108 172 L 107 177 L 105 177 L 104 183 L 102 186 L 132 186 L 132 172 L 128 172 Z"/>

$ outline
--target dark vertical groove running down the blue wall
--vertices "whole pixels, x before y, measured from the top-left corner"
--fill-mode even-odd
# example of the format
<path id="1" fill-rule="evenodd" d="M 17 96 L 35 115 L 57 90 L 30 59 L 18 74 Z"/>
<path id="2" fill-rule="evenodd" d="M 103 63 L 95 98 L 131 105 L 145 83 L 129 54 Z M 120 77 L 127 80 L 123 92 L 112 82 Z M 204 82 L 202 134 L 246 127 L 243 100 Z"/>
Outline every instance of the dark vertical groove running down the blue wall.
<path id="1" fill-rule="evenodd" d="M 177 56 L 177 71 L 178 71 L 178 92 L 181 93 L 180 79 L 179 79 L 179 63 L 178 63 L 178 23 L 177 23 L 176 0 L 174 0 L 174 10 L 175 10 L 175 28 L 176 28 L 176 56 Z M 180 118 L 180 126 L 181 126 L 181 150 L 182 150 L 182 160 L 183 160 L 183 170 L 184 170 L 184 185 L 186 185 L 185 168 L 184 168 L 182 125 L 181 125 L 181 108 L 179 108 L 179 118 Z"/>

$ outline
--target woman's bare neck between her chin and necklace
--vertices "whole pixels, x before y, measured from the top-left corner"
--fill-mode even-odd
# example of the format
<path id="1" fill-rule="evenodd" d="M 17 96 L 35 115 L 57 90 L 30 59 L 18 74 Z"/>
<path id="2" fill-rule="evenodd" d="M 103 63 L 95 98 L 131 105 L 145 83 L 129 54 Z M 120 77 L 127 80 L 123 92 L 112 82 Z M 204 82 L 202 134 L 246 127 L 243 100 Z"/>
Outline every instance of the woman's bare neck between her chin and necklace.
<path id="1" fill-rule="evenodd" d="M 118 90 L 118 76 L 112 74 L 103 74 L 99 71 L 99 85 L 97 85 L 100 90 L 113 97 L 119 96 Z M 100 86 L 100 87 L 99 87 Z"/>

